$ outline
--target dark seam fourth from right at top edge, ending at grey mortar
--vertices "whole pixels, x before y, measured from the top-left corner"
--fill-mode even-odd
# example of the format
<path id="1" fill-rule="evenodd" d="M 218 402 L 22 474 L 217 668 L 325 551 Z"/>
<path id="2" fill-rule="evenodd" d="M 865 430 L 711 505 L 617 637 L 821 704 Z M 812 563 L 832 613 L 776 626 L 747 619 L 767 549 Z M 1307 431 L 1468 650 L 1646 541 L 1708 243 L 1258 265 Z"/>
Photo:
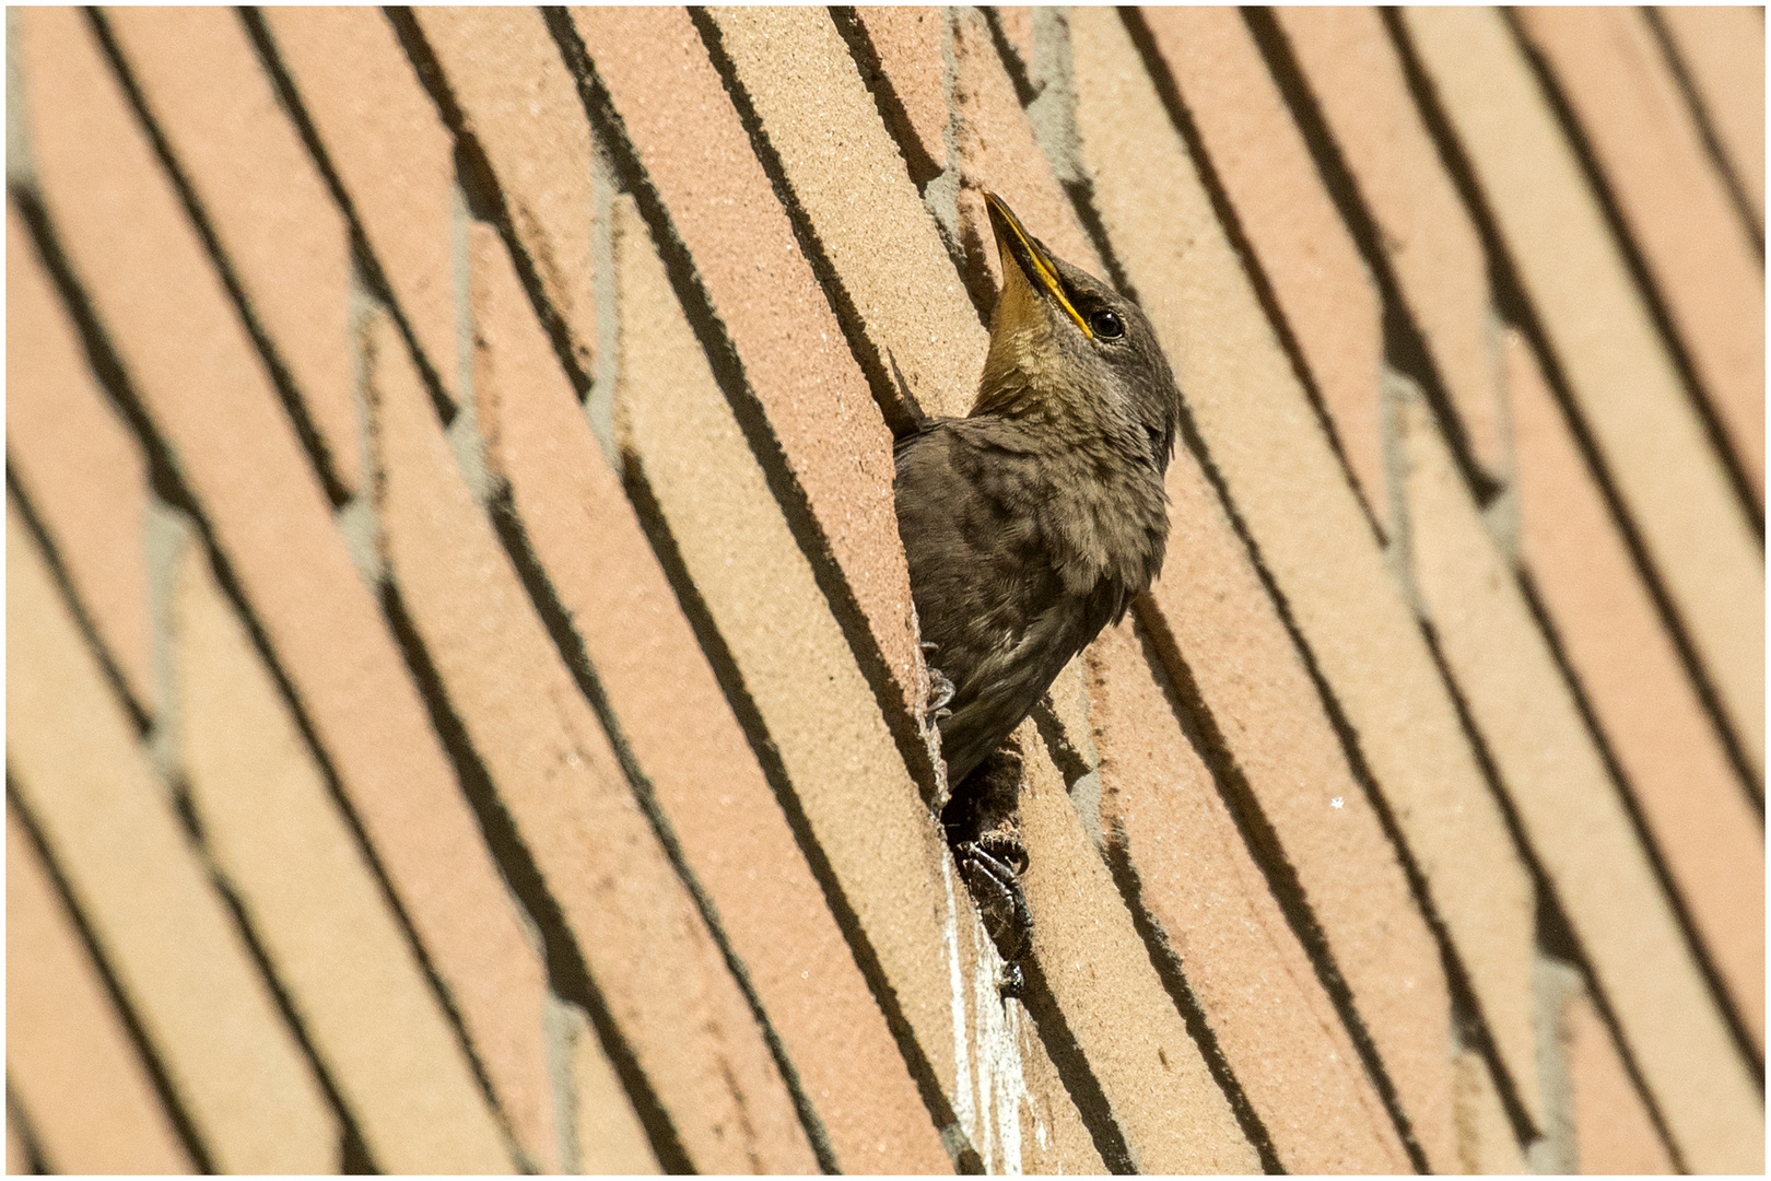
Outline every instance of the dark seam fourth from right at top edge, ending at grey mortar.
<path id="1" fill-rule="evenodd" d="M 1335 211 L 1341 214 L 1342 227 L 1353 239 L 1360 257 L 1365 260 L 1365 267 L 1371 271 L 1371 276 L 1378 285 L 1378 296 L 1383 301 L 1385 359 L 1411 377 L 1426 391 L 1427 405 L 1438 420 L 1440 434 L 1450 444 L 1452 457 L 1465 485 L 1468 485 L 1475 503 L 1486 508 L 1495 496 L 1500 494 L 1504 480 L 1484 473 L 1482 466 L 1475 459 L 1470 432 L 1463 423 L 1463 416 L 1458 414 L 1456 405 L 1450 400 L 1450 393 L 1445 386 L 1443 375 L 1440 374 L 1438 363 L 1433 359 L 1433 352 L 1426 347 L 1426 336 L 1420 331 L 1420 324 L 1415 319 L 1408 299 L 1403 296 L 1396 267 L 1390 266 L 1390 257 L 1381 246 L 1383 235 L 1378 228 L 1376 218 L 1360 197 L 1358 182 L 1353 179 L 1353 170 L 1348 166 L 1346 158 L 1341 154 L 1341 147 L 1328 131 L 1328 122 L 1323 119 L 1321 104 L 1318 103 L 1309 81 L 1303 78 L 1296 55 L 1291 51 L 1291 42 L 1284 30 L 1280 30 L 1272 9 L 1243 9 L 1241 16 L 1249 25 L 1249 32 L 1254 37 L 1256 46 L 1261 50 L 1261 57 L 1266 60 L 1266 67 L 1273 76 L 1275 87 L 1284 97 L 1286 106 L 1291 110 L 1293 122 L 1309 147 L 1321 184 L 1328 191 Z"/>

